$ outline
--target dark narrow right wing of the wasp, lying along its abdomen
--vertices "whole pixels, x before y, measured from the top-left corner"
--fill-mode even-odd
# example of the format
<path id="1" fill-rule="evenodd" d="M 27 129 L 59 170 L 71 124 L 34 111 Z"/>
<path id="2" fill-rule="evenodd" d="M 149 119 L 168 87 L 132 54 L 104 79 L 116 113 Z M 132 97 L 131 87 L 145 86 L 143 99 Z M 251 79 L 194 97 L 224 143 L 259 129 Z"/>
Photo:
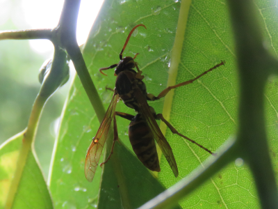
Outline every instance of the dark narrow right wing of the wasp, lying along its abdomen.
<path id="1" fill-rule="evenodd" d="M 140 88 L 135 88 L 134 93 L 136 96 L 136 100 L 139 104 L 139 111 L 142 113 L 144 118 L 147 121 L 147 124 L 149 125 L 150 129 L 152 130 L 152 133 L 154 134 L 154 139 L 156 139 L 156 142 L 158 146 L 161 148 L 163 155 L 166 157 L 167 162 L 169 163 L 174 176 L 179 176 L 179 171 L 177 167 L 177 162 L 174 159 L 174 155 L 172 152 L 172 148 L 170 147 L 170 144 L 167 142 L 165 137 L 163 136 L 163 133 L 161 132 L 161 129 L 158 127 L 158 124 L 156 123 L 156 119 L 152 115 L 152 112 L 149 109 L 149 104 L 147 104 L 147 100 L 140 91 Z"/>

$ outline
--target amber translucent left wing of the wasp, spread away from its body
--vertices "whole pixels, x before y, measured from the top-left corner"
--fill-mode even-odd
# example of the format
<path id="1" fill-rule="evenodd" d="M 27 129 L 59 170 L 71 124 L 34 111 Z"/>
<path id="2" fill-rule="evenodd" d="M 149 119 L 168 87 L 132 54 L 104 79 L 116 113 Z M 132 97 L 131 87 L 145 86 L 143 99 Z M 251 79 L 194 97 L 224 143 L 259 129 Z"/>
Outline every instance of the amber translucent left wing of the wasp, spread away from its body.
<path id="1" fill-rule="evenodd" d="M 86 160 L 85 160 L 85 176 L 88 181 L 92 181 L 95 176 L 95 171 L 97 170 L 97 165 L 99 164 L 99 158 L 104 148 L 104 144 L 107 138 L 109 127 L 113 120 L 116 104 L 119 100 L 119 95 L 114 94 L 112 101 L 106 111 L 104 119 L 97 130 L 97 134 L 92 138 L 92 143 L 87 150 Z"/>

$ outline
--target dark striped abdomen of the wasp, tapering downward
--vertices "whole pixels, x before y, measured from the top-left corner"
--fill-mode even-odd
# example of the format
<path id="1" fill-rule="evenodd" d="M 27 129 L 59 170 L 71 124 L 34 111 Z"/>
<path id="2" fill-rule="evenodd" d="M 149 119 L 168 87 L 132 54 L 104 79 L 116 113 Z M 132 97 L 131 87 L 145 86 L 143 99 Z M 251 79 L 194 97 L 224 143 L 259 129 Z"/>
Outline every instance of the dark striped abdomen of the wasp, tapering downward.
<path id="1" fill-rule="evenodd" d="M 152 131 L 140 114 L 129 124 L 129 141 L 138 159 L 151 171 L 161 171 Z"/>

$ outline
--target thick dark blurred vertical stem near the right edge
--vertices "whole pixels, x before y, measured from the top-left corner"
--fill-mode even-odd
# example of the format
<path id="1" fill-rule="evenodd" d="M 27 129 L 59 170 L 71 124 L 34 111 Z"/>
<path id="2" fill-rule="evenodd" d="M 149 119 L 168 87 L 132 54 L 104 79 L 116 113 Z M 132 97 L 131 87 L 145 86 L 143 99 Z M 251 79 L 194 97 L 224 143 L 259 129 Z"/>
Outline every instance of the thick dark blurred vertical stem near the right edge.
<path id="1" fill-rule="evenodd" d="M 261 29 L 252 0 L 229 0 L 234 27 L 240 104 L 238 142 L 249 162 L 262 208 L 278 208 L 275 173 L 268 149 L 264 116 L 264 88 L 272 68 L 277 66 L 263 47 Z M 275 63 L 275 66 L 273 66 Z"/>

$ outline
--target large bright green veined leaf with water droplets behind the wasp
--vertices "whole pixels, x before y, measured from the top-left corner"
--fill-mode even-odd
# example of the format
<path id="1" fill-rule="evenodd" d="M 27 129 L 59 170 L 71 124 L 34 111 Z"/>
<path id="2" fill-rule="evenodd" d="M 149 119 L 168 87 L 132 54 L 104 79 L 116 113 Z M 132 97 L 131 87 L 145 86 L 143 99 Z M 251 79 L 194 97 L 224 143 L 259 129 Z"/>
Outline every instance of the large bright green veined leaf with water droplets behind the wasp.
<path id="1" fill-rule="evenodd" d="M 165 105 L 166 99 L 149 102 L 157 113 L 169 114 L 170 123 L 181 134 L 217 152 L 224 141 L 235 134 L 238 121 L 236 56 L 227 5 L 225 1 L 192 1 L 190 8 L 186 6 L 183 8 L 181 6 L 183 2 L 185 1 L 105 1 L 92 27 L 83 56 L 106 108 L 113 93 L 106 91 L 105 87 L 114 88 L 115 77 L 113 77 L 113 70 L 107 70 L 108 77 L 104 77 L 99 73 L 99 68 L 118 63 L 126 36 L 136 24 L 145 24 L 147 31 L 142 27 L 136 29 L 124 56 L 134 56 L 139 53 L 136 62 L 140 64 L 140 70 L 145 75 L 144 81 L 149 93 L 158 95 L 167 87 L 169 79 L 174 79 L 176 84 L 185 82 L 220 63 L 221 60 L 225 60 L 227 63 L 225 66 L 209 72 L 193 84 L 174 90 L 170 106 Z M 276 42 L 272 41 L 273 37 L 277 36 L 275 24 L 272 23 L 273 20 L 263 18 L 264 15 L 275 13 L 275 8 L 261 10 L 268 7 L 269 2 L 257 2 L 258 13 L 261 14 L 261 20 L 265 24 L 265 40 L 276 52 Z M 186 20 L 181 20 L 181 15 L 184 15 L 187 9 L 189 14 L 186 22 Z M 275 15 L 271 17 L 276 18 Z M 172 75 L 169 76 L 169 66 L 174 64 L 172 50 L 177 27 L 179 27 L 178 21 L 186 24 L 186 32 L 184 36 L 179 37 L 182 50 L 178 54 L 180 61 L 177 75 L 173 78 Z M 275 142 L 278 137 L 275 102 L 277 80 L 273 78 L 271 82 L 266 88 L 265 109 L 268 116 L 268 135 L 273 153 L 273 165 L 277 169 L 277 143 Z M 122 102 L 117 105 L 117 111 L 135 114 L 133 109 L 127 108 Z M 132 150 L 127 137 L 128 125 L 129 121 L 117 118 L 119 137 L 122 143 Z M 95 112 L 76 77 L 64 109 L 63 123 L 56 142 L 55 158 L 49 181 L 57 208 L 62 206 L 93 208 L 96 206 L 101 169 L 97 169 L 93 182 L 88 183 L 83 174 L 83 167 L 86 150 L 98 127 L 99 122 Z M 179 177 L 174 178 L 169 164 L 162 156 L 161 173 L 158 174 L 158 179 L 165 187 L 170 187 L 194 171 L 200 164 L 202 165 L 209 154 L 181 137 L 173 135 L 169 129 L 165 130 L 165 137 L 177 160 Z M 128 164 L 128 162 L 120 162 L 122 167 Z M 109 164 L 111 165 L 111 162 L 104 166 L 100 190 L 105 188 L 104 191 L 108 191 L 109 185 L 117 181 L 113 176 L 112 166 L 110 167 Z M 130 169 L 132 173 L 133 169 Z M 138 167 L 140 172 L 143 169 L 145 168 Z M 122 170 L 126 171 L 126 169 Z M 106 171 L 108 174 L 105 173 Z M 134 175 L 134 178 L 137 177 Z M 126 178 L 128 183 L 132 180 L 131 177 Z M 103 194 L 100 193 L 100 195 Z M 113 191 L 113 197 L 117 195 L 119 195 L 117 191 Z M 105 201 L 101 198 L 102 196 L 99 196 L 100 208 L 107 203 L 108 196 L 103 198 Z M 233 163 L 186 197 L 181 202 L 181 206 L 183 208 L 220 206 L 257 208 L 259 201 L 254 179 L 247 165 Z"/>

